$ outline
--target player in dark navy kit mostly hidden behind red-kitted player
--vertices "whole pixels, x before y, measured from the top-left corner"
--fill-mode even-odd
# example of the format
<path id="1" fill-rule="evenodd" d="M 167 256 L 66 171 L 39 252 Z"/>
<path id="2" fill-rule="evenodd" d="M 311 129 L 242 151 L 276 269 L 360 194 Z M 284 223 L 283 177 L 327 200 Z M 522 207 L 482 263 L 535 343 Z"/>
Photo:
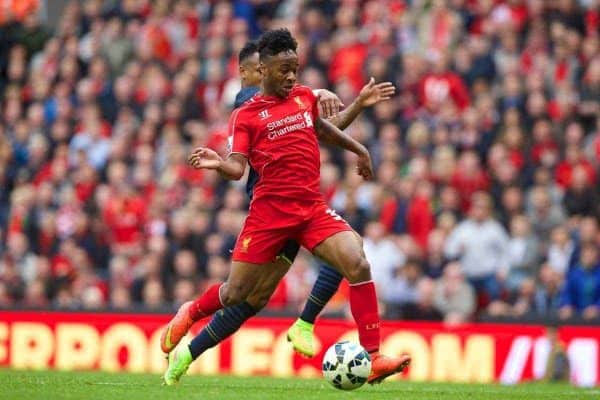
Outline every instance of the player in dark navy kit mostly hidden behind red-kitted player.
<path id="1" fill-rule="evenodd" d="M 240 50 L 239 64 L 242 89 L 236 96 L 234 108 L 241 107 L 260 92 L 262 76 L 259 71 L 258 46 L 255 42 L 248 42 Z M 324 89 L 313 90 L 319 99 L 319 111 L 322 112 L 320 117 L 326 118 L 340 129 L 345 129 L 350 125 L 364 108 L 390 99 L 394 92 L 395 88 L 391 82 L 375 84 L 375 79 L 371 78 L 356 99 L 338 113 L 339 106 L 342 104 L 334 93 Z M 341 131 L 339 133 L 345 135 Z M 233 138 L 230 137 L 230 139 Z M 334 139 L 335 137 L 331 138 L 332 141 Z M 246 193 L 250 199 L 252 199 L 257 181 L 258 174 L 250 168 L 246 182 Z M 202 354 L 207 349 L 214 347 L 221 338 L 230 336 L 245 321 L 256 315 L 271 298 L 282 277 L 293 264 L 299 250 L 300 245 L 289 240 L 276 259 L 268 267 L 262 269 L 262 277 L 246 300 L 212 315 L 206 329 L 190 343 L 192 353 Z M 319 274 L 304 304 L 302 313 L 287 332 L 287 339 L 298 354 L 309 358 L 315 355 L 314 323 L 329 299 L 337 292 L 343 278 L 337 270 L 325 263 L 320 263 Z M 204 318 L 203 311 L 198 308 L 197 304 L 201 298 L 202 296 L 195 301 L 183 303 L 165 326 L 160 337 L 160 345 L 164 353 L 170 353 L 188 333 L 194 322 Z"/>

